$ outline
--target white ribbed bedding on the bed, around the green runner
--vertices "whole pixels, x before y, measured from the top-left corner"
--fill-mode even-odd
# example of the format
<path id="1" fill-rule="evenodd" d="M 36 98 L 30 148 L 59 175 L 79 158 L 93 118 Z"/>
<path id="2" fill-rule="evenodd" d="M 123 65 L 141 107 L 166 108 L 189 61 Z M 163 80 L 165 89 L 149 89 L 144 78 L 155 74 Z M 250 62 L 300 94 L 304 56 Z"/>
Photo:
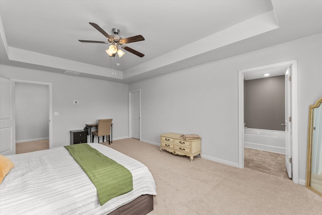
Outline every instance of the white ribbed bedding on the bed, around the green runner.
<path id="1" fill-rule="evenodd" d="M 130 170 L 132 191 L 100 206 L 96 187 L 61 147 L 7 156 L 15 167 L 0 184 L 0 213 L 107 214 L 140 195 L 156 195 L 153 177 L 142 163 L 104 145 L 89 145 Z"/>

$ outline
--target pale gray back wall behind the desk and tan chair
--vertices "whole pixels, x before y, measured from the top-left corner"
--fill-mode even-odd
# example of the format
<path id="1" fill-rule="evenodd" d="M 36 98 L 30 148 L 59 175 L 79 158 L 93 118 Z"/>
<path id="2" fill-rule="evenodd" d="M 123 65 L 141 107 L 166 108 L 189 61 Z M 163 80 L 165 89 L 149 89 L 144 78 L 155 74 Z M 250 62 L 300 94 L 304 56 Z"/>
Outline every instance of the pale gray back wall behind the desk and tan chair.
<path id="1" fill-rule="evenodd" d="M 0 65 L 0 77 L 52 83 L 52 147 L 69 145 L 69 130 L 113 118 L 113 139 L 128 137 L 128 85 Z M 74 105 L 73 100 L 79 104 Z"/>

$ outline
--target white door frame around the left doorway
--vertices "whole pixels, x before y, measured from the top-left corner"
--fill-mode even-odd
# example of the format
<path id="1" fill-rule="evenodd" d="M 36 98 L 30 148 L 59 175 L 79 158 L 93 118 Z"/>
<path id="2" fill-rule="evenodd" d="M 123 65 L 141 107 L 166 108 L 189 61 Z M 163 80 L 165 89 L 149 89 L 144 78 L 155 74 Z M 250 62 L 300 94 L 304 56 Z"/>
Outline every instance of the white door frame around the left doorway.
<path id="1" fill-rule="evenodd" d="M 19 80 L 19 79 L 10 79 L 11 81 L 15 83 L 22 83 L 22 84 L 34 84 L 34 85 L 45 85 L 48 87 L 48 109 L 49 109 L 49 149 L 52 148 L 52 83 L 47 82 L 35 82 L 35 81 L 27 81 L 27 80 Z"/>

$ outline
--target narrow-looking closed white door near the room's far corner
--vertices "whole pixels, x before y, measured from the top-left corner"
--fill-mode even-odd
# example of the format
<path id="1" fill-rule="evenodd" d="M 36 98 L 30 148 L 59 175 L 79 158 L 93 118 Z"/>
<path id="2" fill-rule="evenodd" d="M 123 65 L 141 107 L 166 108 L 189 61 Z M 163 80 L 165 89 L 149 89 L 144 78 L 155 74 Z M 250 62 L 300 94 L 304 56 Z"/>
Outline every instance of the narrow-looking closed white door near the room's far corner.
<path id="1" fill-rule="evenodd" d="M 131 93 L 132 137 L 140 139 L 140 92 Z"/>

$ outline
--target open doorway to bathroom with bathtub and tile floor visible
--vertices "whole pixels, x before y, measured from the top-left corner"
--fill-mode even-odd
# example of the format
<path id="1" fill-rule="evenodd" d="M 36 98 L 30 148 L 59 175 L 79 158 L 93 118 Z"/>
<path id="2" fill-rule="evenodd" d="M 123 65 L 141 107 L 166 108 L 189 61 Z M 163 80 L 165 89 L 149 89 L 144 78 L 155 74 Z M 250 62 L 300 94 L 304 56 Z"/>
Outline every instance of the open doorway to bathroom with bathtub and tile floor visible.
<path id="1" fill-rule="evenodd" d="M 286 179 L 288 69 L 285 66 L 244 75 L 244 167 Z"/>

